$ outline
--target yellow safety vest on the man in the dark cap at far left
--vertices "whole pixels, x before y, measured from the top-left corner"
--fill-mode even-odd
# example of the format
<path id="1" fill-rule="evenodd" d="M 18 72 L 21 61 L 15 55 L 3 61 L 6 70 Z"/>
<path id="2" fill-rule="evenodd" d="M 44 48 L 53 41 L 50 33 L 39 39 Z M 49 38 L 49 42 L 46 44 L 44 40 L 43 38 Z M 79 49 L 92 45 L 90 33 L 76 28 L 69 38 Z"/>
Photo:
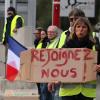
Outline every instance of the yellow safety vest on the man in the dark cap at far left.
<path id="1" fill-rule="evenodd" d="M 17 19 L 18 19 L 19 17 L 21 17 L 21 16 L 16 15 L 16 16 L 13 18 L 12 22 L 11 22 L 10 36 L 13 36 L 13 35 L 14 35 L 13 30 L 16 28 L 16 22 L 17 22 Z M 22 17 L 21 17 L 21 18 L 22 18 Z M 23 19 L 23 18 L 22 18 L 22 23 L 23 23 L 23 25 L 24 25 L 24 19 Z M 6 24 L 7 24 L 7 23 L 5 23 L 5 25 L 4 25 L 2 42 L 4 41 L 4 38 L 5 38 Z"/>

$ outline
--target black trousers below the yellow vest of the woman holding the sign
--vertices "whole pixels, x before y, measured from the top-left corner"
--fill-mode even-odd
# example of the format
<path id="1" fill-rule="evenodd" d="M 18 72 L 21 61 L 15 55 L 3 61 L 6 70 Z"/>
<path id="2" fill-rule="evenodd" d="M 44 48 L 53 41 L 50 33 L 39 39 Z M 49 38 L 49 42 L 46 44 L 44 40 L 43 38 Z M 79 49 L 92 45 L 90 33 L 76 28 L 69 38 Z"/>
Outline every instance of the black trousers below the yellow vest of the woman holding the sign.
<path id="1" fill-rule="evenodd" d="M 93 100 L 93 98 L 88 98 L 83 96 L 82 94 L 74 95 L 74 96 L 63 96 L 62 100 Z"/>

